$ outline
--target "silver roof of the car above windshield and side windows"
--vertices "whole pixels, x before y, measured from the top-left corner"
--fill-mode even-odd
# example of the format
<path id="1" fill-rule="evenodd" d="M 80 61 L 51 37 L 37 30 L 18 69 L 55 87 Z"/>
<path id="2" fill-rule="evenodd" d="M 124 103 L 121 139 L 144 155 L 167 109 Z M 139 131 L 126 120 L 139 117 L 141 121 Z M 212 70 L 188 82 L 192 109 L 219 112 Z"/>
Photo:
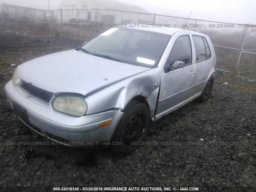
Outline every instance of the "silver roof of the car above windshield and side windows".
<path id="1" fill-rule="evenodd" d="M 160 24 L 127 24 L 126 28 L 133 28 L 133 29 L 139 29 L 139 30 L 145 30 L 145 31 L 152 31 L 152 32 L 158 32 L 168 35 L 173 35 L 174 33 L 178 31 L 189 31 L 191 34 L 198 34 L 198 35 L 204 35 L 202 33 L 198 33 L 191 30 L 185 30 L 181 28 L 173 28 L 173 27 L 165 27 L 164 25 Z"/>

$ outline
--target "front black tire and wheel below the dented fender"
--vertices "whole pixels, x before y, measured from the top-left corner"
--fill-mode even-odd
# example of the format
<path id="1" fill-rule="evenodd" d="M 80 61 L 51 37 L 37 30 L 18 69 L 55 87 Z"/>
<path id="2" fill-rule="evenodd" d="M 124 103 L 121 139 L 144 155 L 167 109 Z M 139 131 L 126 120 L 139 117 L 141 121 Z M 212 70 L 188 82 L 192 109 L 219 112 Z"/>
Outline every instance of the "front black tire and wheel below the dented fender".
<path id="1" fill-rule="evenodd" d="M 144 141 L 150 124 L 148 107 L 141 102 L 131 101 L 124 109 L 124 115 L 112 136 L 112 151 L 121 156 L 128 155 L 138 148 L 139 142 Z M 112 143 L 111 142 L 111 143 Z"/>

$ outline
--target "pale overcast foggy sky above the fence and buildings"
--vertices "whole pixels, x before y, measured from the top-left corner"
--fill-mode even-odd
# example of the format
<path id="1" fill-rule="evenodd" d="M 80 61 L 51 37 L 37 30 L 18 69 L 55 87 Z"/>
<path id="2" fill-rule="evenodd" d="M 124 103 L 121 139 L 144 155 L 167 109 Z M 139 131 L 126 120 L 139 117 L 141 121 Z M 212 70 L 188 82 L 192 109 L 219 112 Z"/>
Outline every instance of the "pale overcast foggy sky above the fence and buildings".
<path id="1" fill-rule="evenodd" d="M 62 0 L 50 0 L 56 9 Z M 71 0 L 72 1 L 72 0 Z M 86 0 L 85 0 L 86 1 Z M 95 0 L 97 1 L 97 0 Z M 107 1 L 107 0 L 106 0 Z M 117 0 L 142 6 L 149 13 L 212 20 L 219 22 L 256 24 L 256 0 Z M 0 0 L 0 3 L 48 9 L 48 0 Z"/>

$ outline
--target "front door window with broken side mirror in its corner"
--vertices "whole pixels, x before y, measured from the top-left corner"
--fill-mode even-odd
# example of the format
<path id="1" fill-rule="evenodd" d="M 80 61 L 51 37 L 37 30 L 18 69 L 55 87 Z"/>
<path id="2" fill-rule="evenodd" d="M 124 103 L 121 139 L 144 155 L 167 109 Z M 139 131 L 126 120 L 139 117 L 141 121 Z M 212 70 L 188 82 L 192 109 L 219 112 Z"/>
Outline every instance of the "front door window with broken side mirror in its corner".
<path id="1" fill-rule="evenodd" d="M 176 70 L 192 64 L 191 42 L 188 35 L 180 36 L 175 41 L 166 65 L 164 72 Z"/>

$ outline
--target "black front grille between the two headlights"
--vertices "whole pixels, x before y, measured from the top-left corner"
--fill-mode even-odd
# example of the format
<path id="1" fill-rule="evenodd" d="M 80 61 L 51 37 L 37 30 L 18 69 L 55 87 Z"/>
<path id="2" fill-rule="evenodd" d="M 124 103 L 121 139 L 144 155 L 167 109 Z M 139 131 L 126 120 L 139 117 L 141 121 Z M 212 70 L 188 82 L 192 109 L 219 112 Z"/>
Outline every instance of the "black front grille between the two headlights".
<path id="1" fill-rule="evenodd" d="M 40 89 L 40 88 L 32 85 L 32 83 L 27 83 L 26 81 L 22 81 L 21 87 L 24 90 L 26 90 L 27 92 L 29 92 L 30 95 L 37 97 L 46 103 L 49 103 L 50 100 L 52 99 L 53 93 L 43 90 L 43 89 Z"/>

